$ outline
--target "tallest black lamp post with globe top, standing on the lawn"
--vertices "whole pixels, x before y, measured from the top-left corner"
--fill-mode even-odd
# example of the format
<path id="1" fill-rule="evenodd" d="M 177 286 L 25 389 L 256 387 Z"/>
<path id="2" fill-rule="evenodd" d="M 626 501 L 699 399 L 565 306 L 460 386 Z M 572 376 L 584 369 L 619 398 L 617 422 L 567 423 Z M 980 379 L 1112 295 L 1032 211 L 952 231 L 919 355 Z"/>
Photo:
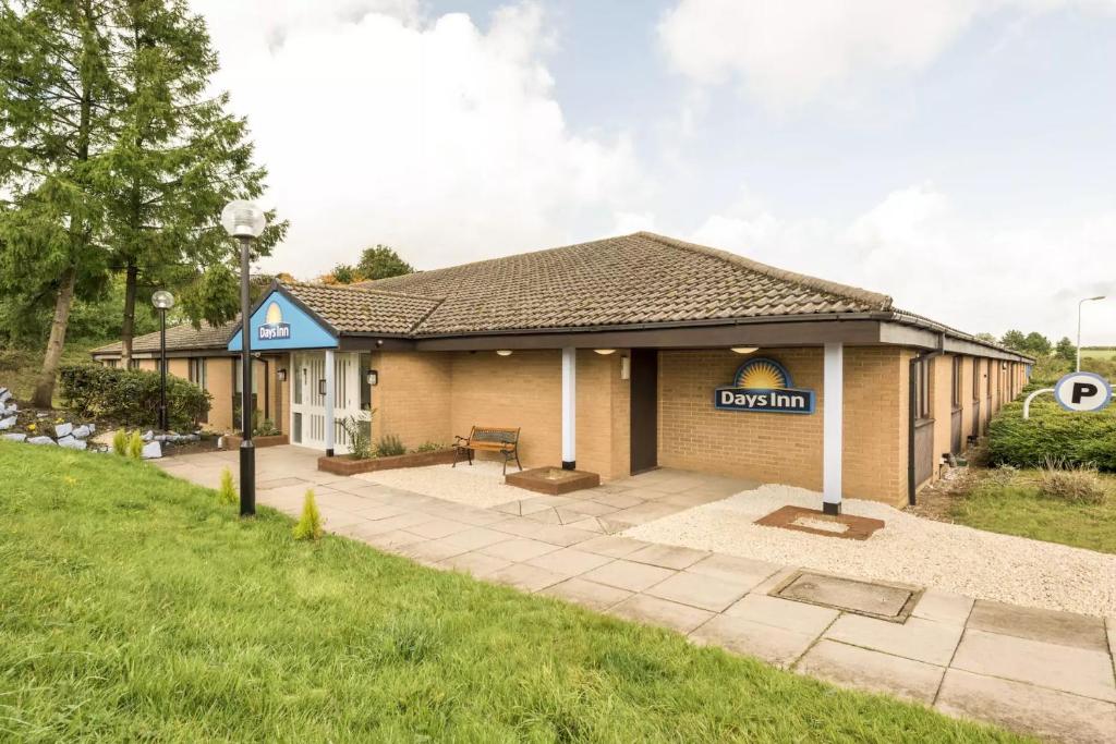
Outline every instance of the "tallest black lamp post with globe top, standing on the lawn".
<path id="1" fill-rule="evenodd" d="M 252 444 L 252 302 L 249 263 L 252 241 L 267 225 L 263 210 L 243 200 L 229 202 L 221 211 L 221 225 L 240 242 L 240 515 L 256 513 L 256 446 Z"/>

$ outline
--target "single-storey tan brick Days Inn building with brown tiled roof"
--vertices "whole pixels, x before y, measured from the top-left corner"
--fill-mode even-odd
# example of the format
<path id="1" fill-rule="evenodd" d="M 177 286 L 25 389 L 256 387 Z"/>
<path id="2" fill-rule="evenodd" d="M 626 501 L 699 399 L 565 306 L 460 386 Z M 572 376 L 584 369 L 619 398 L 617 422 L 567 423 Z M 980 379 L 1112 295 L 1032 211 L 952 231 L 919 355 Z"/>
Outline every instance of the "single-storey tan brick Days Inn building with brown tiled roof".
<path id="1" fill-rule="evenodd" d="M 519 427 L 525 466 L 656 466 L 892 504 L 981 436 L 1028 357 L 889 297 L 635 233 L 350 287 L 277 283 L 251 318 L 254 407 L 291 442 L 448 444 Z M 135 340 L 155 368 L 158 335 Z M 170 374 L 233 429 L 238 323 L 167 331 Z M 94 358 L 115 364 L 119 345 Z M 373 381 L 374 380 L 374 381 Z"/>

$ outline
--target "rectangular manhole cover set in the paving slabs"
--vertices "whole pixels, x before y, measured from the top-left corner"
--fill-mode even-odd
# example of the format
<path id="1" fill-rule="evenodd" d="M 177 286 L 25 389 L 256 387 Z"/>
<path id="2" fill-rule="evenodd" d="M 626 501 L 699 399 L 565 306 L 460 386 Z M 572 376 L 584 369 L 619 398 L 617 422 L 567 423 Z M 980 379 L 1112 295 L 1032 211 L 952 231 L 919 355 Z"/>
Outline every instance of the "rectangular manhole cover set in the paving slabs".
<path id="1" fill-rule="evenodd" d="M 799 571 L 771 593 L 783 599 L 903 622 L 914 609 L 922 590 Z"/>

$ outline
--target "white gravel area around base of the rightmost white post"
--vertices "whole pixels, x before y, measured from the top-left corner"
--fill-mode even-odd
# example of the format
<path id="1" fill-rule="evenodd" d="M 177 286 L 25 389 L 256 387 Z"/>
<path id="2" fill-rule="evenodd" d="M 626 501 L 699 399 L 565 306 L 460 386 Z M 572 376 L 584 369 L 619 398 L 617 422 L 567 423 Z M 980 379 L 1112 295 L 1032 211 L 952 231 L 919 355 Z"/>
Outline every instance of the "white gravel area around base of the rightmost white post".
<path id="1" fill-rule="evenodd" d="M 818 493 L 763 485 L 647 522 L 622 534 L 844 576 L 935 587 L 978 599 L 1116 617 L 1116 555 L 935 522 L 870 501 L 848 514 L 887 524 L 866 541 L 759 526 L 788 504 L 817 509 Z"/>

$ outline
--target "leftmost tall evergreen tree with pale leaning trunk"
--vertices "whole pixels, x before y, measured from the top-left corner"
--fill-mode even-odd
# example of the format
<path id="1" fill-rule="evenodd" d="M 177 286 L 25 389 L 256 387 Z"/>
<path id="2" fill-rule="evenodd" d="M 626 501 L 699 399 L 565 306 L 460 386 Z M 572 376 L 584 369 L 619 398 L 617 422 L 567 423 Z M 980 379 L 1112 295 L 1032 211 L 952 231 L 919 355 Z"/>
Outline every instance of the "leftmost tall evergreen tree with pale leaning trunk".
<path id="1" fill-rule="evenodd" d="M 75 296 L 106 279 L 113 112 L 104 0 L 0 0 L 0 290 L 52 307 L 31 402 L 50 407 Z"/>

